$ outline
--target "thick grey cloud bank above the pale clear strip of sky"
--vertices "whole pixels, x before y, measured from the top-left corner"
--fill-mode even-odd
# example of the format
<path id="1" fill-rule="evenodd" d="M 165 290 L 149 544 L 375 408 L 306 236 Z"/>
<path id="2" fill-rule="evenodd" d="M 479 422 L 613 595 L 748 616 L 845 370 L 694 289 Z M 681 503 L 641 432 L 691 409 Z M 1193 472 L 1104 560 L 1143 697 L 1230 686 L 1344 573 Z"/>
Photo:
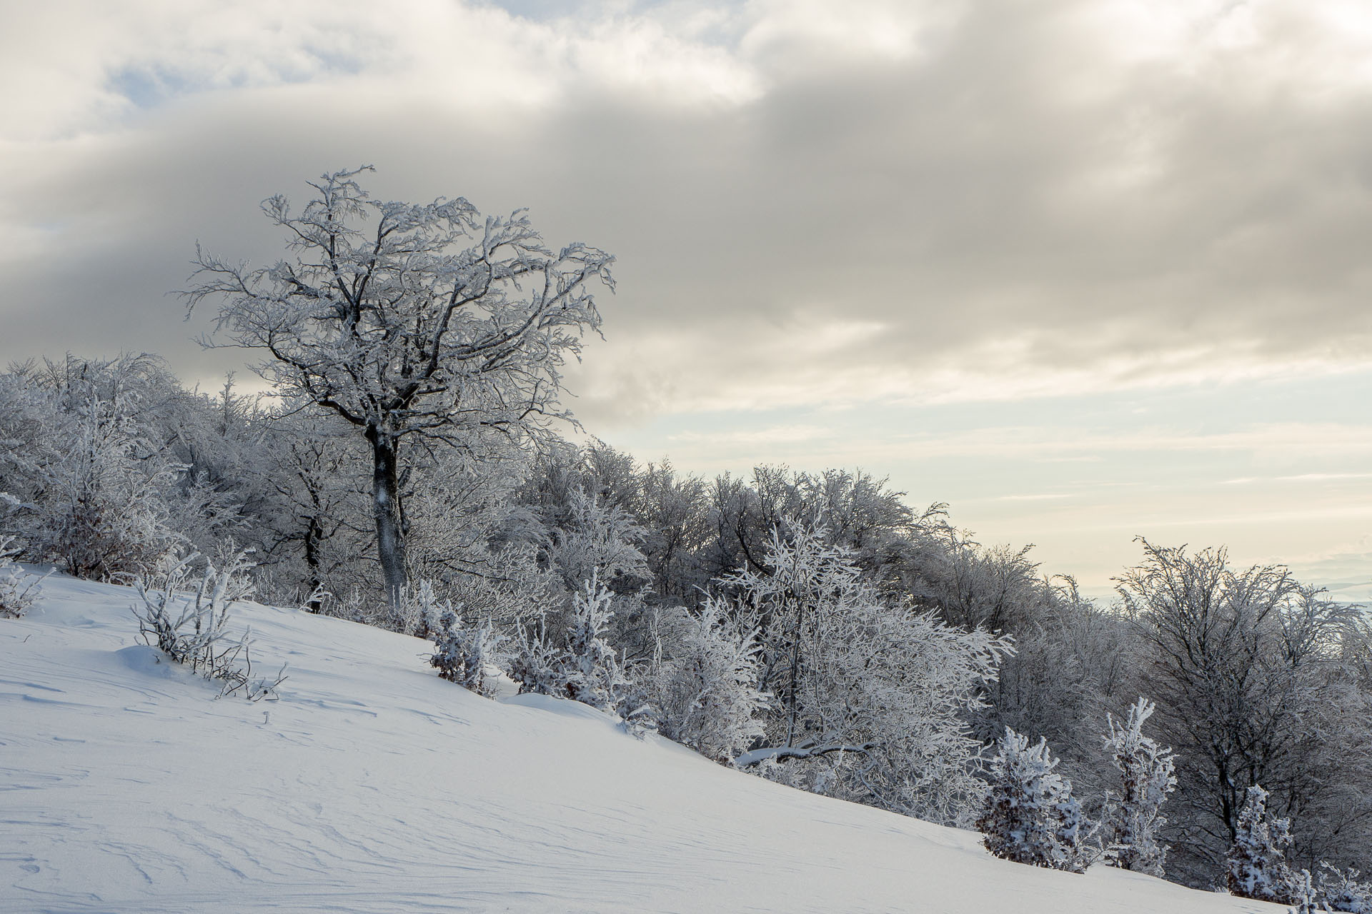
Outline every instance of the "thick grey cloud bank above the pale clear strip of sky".
<path id="1" fill-rule="evenodd" d="M 195 238 L 268 259 L 257 200 L 372 162 L 619 256 L 591 422 L 1360 362 L 1372 104 L 1336 5 L 417 0 L 218 38 L 152 4 L 11 130 L 0 358 L 221 370 L 165 296 Z"/>

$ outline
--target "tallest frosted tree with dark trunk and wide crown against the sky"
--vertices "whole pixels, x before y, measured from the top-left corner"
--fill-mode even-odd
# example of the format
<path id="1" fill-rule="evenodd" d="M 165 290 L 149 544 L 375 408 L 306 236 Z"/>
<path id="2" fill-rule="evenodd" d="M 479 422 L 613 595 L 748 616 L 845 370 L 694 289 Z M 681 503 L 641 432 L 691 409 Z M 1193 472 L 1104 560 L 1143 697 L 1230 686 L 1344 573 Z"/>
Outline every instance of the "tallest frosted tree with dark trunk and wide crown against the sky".
<path id="1" fill-rule="evenodd" d="M 394 600 L 406 581 L 401 500 L 407 447 L 471 447 L 486 434 L 541 434 L 558 371 L 600 326 L 590 282 L 612 258 L 545 247 L 525 211 L 486 217 L 466 200 L 373 200 L 357 177 L 325 174 L 299 215 L 284 196 L 262 210 L 294 256 L 250 270 L 196 254 L 189 308 L 221 301 L 217 328 L 266 355 L 284 397 L 332 410 L 370 451 L 376 548 Z"/>

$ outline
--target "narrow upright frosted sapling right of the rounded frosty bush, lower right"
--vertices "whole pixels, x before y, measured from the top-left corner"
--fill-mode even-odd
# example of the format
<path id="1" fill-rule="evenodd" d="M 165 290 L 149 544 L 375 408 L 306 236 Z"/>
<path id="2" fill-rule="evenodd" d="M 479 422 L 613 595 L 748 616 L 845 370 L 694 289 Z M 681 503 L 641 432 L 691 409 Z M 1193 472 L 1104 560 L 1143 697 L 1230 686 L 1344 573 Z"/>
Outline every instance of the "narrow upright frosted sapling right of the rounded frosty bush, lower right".
<path id="1" fill-rule="evenodd" d="M 1168 824 L 1162 804 L 1177 778 L 1172 750 L 1143 734 L 1143 724 L 1152 711 L 1152 702 L 1140 697 L 1129 707 L 1124 722 L 1106 717 L 1104 748 L 1120 771 L 1120 787 L 1106 802 L 1102 825 L 1107 852 L 1117 866 L 1162 876 L 1168 855 L 1168 847 L 1158 837 Z"/>

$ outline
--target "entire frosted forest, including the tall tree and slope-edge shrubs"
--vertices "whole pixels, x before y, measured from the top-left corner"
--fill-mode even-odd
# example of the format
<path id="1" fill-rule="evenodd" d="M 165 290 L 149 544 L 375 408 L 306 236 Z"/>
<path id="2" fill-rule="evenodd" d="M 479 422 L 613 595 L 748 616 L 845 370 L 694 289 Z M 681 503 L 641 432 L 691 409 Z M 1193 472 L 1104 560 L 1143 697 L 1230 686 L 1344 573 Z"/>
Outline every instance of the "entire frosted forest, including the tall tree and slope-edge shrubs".
<path id="1" fill-rule="evenodd" d="M 1021 863 L 1372 910 L 1361 607 L 1146 539 L 1087 599 L 860 469 L 617 451 L 561 375 L 613 258 L 365 178 L 269 199 L 279 263 L 196 252 L 185 301 L 265 393 L 145 354 L 0 374 L 0 626 L 40 566 L 133 585 L 130 639 L 262 699 L 289 669 L 259 637 L 250 671 L 226 621 L 298 607 L 418 639 L 453 689 L 579 702 Z"/>

